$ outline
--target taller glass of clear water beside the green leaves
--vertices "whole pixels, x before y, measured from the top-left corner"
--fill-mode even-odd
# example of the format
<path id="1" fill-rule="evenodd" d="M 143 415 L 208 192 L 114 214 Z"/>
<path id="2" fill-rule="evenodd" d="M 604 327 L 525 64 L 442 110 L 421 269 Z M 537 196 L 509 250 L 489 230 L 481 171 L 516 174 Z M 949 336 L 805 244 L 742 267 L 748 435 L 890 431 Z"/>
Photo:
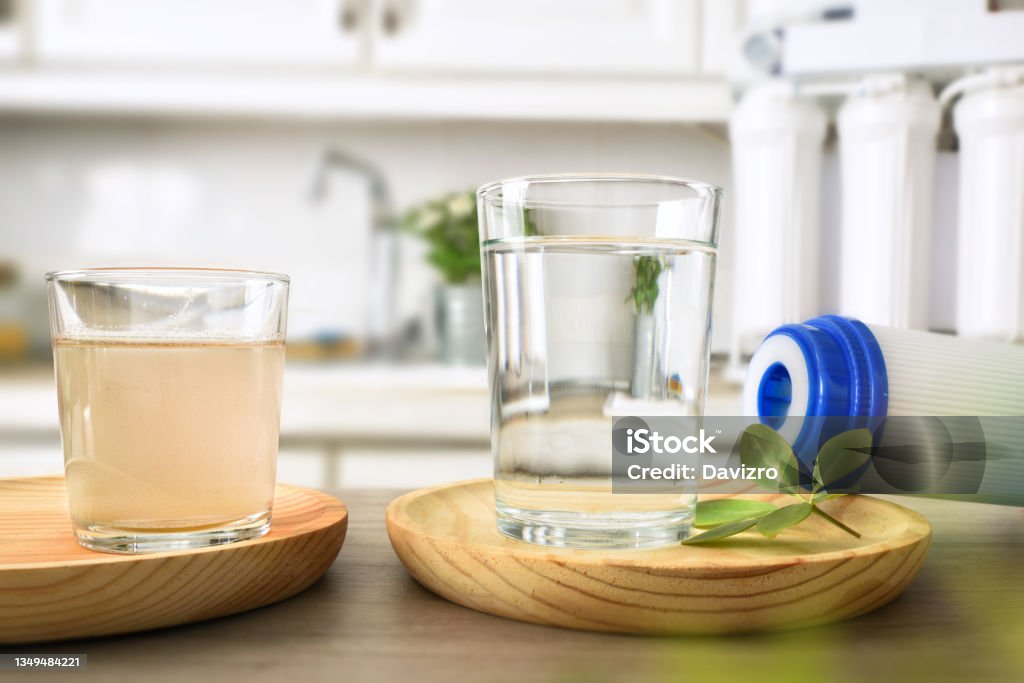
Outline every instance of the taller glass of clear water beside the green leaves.
<path id="1" fill-rule="evenodd" d="M 506 536 L 643 548 L 689 533 L 695 483 L 612 493 L 611 426 L 703 414 L 721 196 L 639 175 L 521 177 L 478 190 Z"/>

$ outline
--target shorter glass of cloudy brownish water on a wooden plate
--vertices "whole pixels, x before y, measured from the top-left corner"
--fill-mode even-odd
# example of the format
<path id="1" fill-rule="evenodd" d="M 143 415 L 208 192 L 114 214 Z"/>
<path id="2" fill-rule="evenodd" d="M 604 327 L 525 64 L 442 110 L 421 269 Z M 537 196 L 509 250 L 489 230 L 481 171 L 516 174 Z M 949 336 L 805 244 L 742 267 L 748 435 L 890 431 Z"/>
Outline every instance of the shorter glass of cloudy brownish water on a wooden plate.
<path id="1" fill-rule="evenodd" d="M 78 542 L 143 553 L 265 533 L 288 276 L 124 268 L 46 280 Z"/>

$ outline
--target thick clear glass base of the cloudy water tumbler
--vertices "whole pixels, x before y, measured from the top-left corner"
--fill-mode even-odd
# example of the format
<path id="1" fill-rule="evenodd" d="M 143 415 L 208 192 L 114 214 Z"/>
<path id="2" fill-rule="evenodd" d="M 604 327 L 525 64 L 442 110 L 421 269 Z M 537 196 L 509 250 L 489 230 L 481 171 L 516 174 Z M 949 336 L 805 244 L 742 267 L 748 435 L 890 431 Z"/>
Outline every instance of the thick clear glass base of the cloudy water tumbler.
<path id="1" fill-rule="evenodd" d="M 101 553 L 136 555 L 172 550 L 195 550 L 258 539 L 270 530 L 270 511 L 243 517 L 226 524 L 190 531 L 123 529 L 102 524 L 77 526 L 75 536 L 83 548 Z"/>

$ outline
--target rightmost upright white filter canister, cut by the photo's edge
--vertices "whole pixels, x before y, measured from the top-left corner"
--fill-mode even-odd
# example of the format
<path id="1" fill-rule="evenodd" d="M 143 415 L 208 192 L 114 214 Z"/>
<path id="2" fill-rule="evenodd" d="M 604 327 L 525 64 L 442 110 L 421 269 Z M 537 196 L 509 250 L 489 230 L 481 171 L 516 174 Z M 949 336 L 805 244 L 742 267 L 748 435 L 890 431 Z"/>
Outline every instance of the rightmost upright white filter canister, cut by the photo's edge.
<path id="1" fill-rule="evenodd" d="M 969 77 L 959 137 L 956 330 L 1024 341 L 1024 67 Z"/>

